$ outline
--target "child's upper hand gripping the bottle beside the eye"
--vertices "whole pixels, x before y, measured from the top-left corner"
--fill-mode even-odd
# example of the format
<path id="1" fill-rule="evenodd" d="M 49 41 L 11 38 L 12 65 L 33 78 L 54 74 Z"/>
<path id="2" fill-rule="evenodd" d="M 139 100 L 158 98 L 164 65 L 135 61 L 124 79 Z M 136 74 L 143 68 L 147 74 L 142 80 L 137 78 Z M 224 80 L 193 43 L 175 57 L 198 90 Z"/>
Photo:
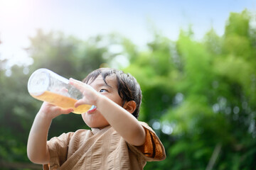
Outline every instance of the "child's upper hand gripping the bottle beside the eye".
<path id="1" fill-rule="evenodd" d="M 75 86 L 82 92 L 83 97 L 75 103 L 75 107 L 78 107 L 82 104 L 95 105 L 97 98 L 100 96 L 100 93 L 95 91 L 92 86 L 70 78 L 70 84 Z"/>

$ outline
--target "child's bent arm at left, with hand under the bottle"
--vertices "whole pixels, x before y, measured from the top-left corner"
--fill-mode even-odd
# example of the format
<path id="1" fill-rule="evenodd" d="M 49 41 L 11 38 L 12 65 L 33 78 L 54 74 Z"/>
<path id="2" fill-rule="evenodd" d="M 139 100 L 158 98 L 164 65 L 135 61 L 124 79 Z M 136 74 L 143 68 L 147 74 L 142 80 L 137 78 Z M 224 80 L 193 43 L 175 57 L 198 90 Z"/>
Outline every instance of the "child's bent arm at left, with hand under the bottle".
<path id="1" fill-rule="evenodd" d="M 28 135 L 27 154 L 28 159 L 36 164 L 48 164 L 50 154 L 47 147 L 47 135 L 53 118 L 60 114 L 68 114 L 73 108 L 61 109 L 44 102 L 38 111 Z"/>

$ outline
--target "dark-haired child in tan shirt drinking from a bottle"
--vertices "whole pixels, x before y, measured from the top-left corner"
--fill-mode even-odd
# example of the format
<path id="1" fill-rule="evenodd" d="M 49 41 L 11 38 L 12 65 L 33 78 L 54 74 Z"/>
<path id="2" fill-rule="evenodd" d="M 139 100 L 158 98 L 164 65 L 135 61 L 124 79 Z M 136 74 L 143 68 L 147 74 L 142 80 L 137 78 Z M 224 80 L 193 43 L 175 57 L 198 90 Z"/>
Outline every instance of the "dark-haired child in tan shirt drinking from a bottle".
<path id="1" fill-rule="evenodd" d="M 68 114 L 44 102 L 28 137 L 28 158 L 43 169 L 143 169 L 146 161 L 166 157 L 164 146 L 146 123 L 139 122 L 142 91 L 136 79 L 117 69 L 97 69 L 84 80 L 70 79 L 92 105 L 82 119 L 91 130 L 63 133 L 47 141 L 51 120 Z"/>

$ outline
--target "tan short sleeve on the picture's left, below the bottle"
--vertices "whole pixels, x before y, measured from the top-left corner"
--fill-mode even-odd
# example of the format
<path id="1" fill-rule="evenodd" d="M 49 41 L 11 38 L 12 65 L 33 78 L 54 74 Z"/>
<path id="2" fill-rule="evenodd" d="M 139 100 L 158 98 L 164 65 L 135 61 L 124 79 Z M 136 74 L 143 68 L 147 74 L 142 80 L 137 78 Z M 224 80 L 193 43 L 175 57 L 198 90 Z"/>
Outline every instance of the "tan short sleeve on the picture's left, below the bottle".
<path id="1" fill-rule="evenodd" d="M 67 159 L 68 145 L 73 132 L 63 133 L 59 137 L 53 137 L 48 142 L 50 164 L 43 165 L 43 169 L 58 169 Z"/>

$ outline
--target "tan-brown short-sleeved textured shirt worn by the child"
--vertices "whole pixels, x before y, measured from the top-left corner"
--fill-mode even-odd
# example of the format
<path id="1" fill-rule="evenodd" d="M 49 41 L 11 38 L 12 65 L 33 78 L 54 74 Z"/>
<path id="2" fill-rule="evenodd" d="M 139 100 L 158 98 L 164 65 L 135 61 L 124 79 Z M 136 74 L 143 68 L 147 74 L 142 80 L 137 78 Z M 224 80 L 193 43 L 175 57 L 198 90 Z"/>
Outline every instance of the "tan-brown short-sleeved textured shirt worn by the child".
<path id="1" fill-rule="evenodd" d="M 111 127 L 63 133 L 48 141 L 50 164 L 43 169 L 143 169 L 147 161 L 166 158 L 159 137 L 146 124 L 146 142 L 140 147 L 129 145 Z"/>

